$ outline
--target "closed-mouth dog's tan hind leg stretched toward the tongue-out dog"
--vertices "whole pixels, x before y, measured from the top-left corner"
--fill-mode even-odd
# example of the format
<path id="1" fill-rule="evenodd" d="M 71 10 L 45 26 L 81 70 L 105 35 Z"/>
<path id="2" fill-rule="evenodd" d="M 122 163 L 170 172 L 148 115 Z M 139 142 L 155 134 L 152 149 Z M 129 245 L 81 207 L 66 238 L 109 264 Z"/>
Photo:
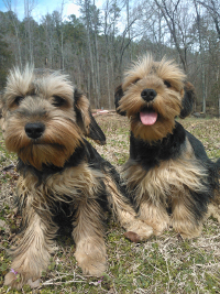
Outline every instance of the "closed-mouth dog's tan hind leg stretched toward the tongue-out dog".
<path id="1" fill-rule="evenodd" d="M 110 176 L 106 176 L 105 184 L 108 190 L 108 202 L 113 215 L 127 230 L 124 235 L 134 242 L 148 239 L 153 235 L 152 227 L 136 218 L 131 203 L 120 192 L 118 184 Z"/>

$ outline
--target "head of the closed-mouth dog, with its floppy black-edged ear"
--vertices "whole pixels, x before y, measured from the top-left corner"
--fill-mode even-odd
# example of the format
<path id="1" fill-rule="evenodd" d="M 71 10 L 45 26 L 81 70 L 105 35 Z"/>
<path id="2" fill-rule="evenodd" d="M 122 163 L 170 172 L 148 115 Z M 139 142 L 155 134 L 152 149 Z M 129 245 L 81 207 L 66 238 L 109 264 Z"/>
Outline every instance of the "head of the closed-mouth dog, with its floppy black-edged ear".
<path id="1" fill-rule="evenodd" d="M 50 69 L 11 70 L 2 115 L 7 149 L 37 170 L 42 164 L 64 166 L 84 135 L 106 140 L 88 99 L 67 76 Z"/>

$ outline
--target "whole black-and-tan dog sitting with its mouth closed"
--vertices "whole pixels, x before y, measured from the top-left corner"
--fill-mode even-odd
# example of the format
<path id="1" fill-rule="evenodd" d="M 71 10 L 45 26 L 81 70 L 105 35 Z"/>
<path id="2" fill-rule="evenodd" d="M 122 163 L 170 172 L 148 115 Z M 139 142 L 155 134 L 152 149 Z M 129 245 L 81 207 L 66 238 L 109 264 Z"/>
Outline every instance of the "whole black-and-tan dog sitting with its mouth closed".
<path id="1" fill-rule="evenodd" d="M 75 257 L 85 274 L 106 270 L 105 211 L 111 210 L 128 233 L 143 240 L 152 228 L 135 218 L 119 174 L 85 137 L 103 144 L 88 99 L 66 75 L 50 69 L 10 72 L 2 100 L 6 146 L 19 156 L 16 205 L 21 232 L 4 284 L 38 284 L 54 252 L 63 213 L 73 225 Z"/>

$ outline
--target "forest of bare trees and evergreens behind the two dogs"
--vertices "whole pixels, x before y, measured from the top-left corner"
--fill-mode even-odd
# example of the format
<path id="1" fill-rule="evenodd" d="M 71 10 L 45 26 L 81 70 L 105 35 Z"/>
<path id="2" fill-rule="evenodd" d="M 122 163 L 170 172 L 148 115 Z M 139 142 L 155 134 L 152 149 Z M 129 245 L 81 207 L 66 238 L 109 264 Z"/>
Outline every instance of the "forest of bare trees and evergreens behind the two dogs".
<path id="1" fill-rule="evenodd" d="M 0 90 L 9 68 L 33 63 L 62 69 L 95 108 L 113 108 L 123 70 L 146 52 L 175 59 L 196 88 L 195 111 L 220 107 L 219 0 L 78 0 L 80 17 L 61 9 L 32 17 L 34 0 L 24 0 L 23 20 L 11 0 L 0 11 Z"/>

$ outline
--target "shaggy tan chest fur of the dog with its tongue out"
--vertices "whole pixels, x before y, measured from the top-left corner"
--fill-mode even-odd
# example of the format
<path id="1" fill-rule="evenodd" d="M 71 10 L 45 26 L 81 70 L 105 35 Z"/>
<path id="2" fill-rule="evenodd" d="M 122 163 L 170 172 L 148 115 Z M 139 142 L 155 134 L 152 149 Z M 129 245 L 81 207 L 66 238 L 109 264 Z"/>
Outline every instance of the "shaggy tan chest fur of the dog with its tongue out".
<path id="1" fill-rule="evenodd" d="M 183 193 L 188 190 L 200 190 L 204 172 L 195 160 L 183 156 L 161 162 L 147 172 L 141 164 L 130 165 L 124 177 L 130 189 L 135 190 L 138 198 L 166 202 L 169 198 L 182 197 Z"/>

